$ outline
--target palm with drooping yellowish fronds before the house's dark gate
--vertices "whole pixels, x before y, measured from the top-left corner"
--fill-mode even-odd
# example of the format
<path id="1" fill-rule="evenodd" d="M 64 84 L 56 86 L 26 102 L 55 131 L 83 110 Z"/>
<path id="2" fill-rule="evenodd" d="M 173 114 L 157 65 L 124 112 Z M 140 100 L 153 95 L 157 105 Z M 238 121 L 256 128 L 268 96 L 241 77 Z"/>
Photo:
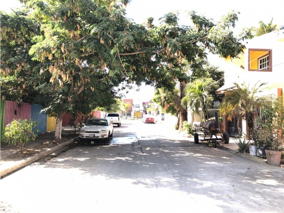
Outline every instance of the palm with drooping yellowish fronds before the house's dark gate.
<path id="1" fill-rule="evenodd" d="M 245 83 L 239 85 L 234 83 L 236 89 L 225 90 L 223 102 L 220 104 L 220 113 L 225 114 L 228 120 L 231 120 L 234 114 L 238 114 L 238 118 L 244 118 L 247 121 L 249 129 L 254 128 L 255 121 L 255 108 L 262 107 L 268 102 L 268 97 L 256 96 L 257 93 L 263 91 L 262 88 L 266 83 L 261 83 L 258 86 L 259 81 L 252 87 L 246 86 Z"/>

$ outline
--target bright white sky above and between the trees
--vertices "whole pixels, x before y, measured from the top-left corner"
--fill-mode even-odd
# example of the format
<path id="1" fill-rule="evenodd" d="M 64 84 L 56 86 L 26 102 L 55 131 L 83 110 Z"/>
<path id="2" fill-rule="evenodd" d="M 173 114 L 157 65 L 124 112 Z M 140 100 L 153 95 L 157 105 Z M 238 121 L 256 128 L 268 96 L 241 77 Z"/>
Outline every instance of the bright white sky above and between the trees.
<path id="1" fill-rule="evenodd" d="M 18 7 L 19 1 L 9 0 L 0 1 L 1 10 L 9 11 L 9 8 Z M 153 17 L 154 24 L 159 25 L 159 18 L 169 12 L 179 12 L 179 24 L 191 25 L 191 20 L 187 17 L 187 11 L 194 10 L 198 15 L 204 15 L 207 18 L 218 21 L 223 15 L 227 15 L 230 10 L 239 11 L 238 21 L 234 33 L 238 34 L 244 27 L 258 27 L 259 21 L 265 24 L 273 18 L 273 23 L 279 26 L 284 25 L 284 1 L 283 0 L 131 0 L 126 7 L 127 17 L 133 19 L 137 24 L 146 23 L 147 18 Z M 211 57 L 211 63 L 218 65 L 218 57 Z M 136 87 L 136 89 L 138 89 Z M 131 90 L 125 93 L 125 98 L 133 98 L 134 103 L 149 101 L 153 98 L 154 88 L 151 86 L 142 86 L 140 91 Z"/>

